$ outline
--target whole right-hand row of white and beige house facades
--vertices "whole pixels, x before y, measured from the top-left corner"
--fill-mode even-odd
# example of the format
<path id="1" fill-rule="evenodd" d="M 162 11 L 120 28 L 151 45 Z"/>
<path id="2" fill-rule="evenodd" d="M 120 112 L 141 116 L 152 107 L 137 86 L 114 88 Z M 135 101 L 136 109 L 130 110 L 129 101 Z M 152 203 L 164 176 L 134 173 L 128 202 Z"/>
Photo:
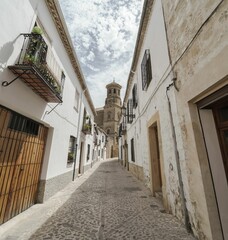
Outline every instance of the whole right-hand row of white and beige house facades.
<path id="1" fill-rule="evenodd" d="M 228 239 L 227 9 L 145 0 L 123 101 L 122 162 L 202 240 Z"/>

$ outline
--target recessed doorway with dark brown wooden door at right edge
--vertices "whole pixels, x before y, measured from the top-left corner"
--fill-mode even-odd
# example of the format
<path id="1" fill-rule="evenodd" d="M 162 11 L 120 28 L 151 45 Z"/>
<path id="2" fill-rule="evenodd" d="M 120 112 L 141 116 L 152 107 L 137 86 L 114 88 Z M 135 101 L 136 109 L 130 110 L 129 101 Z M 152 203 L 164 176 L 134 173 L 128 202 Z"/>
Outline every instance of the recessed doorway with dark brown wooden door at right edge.
<path id="1" fill-rule="evenodd" d="M 224 239 L 228 240 L 228 87 L 198 102 Z"/>

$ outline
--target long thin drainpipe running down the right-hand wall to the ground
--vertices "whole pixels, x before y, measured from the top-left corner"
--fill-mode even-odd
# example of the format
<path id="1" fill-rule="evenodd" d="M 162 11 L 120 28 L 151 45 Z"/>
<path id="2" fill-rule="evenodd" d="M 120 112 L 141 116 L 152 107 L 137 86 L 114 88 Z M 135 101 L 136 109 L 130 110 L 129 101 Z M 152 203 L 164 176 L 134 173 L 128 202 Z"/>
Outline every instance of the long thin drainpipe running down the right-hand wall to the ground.
<path id="1" fill-rule="evenodd" d="M 177 165 L 177 174 L 178 174 L 178 180 L 179 180 L 179 185 L 180 185 L 181 202 L 182 202 L 183 212 L 184 212 L 184 222 L 185 222 L 185 227 L 186 227 L 187 231 L 190 233 L 190 232 L 192 232 L 192 229 L 191 229 L 191 224 L 190 224 L 190 221 L 189 221 L 188 209 L 187 209 L 187 206 L 186 206 L 186 198 L 185 198 L 183 178 L 182 178 L 181 166 L 180 166 L 180 156 L 179 156 L 179 152 L 178 152 L 178 149 L 177 149 L 177 137 L 176 137 L 175 127 L 174 127 L 171 102 L 170 102 L 169 95 L 168 95 L 168 91 L 170 90 L 170 87 L 174 86 L 176 88 L 175 80 L 176 79 L 173 79 L 173 83 L 171 83 L 166 88 L 166 97 L 167 97 L 167 100 L 168 100 L 171 131 L 172 131 L 172 136 L 173 136 L 173 145 L 174 145 L 175 159 L 176 159 L 176 165 Z"/>

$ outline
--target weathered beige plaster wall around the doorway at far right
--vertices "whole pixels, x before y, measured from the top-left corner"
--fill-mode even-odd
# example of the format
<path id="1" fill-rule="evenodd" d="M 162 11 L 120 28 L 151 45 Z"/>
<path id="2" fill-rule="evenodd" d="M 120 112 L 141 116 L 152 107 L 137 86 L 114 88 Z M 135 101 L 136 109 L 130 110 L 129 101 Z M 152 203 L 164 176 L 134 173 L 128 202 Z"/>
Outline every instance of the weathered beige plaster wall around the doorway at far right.
<path id="1" fill-rule="evenodd" d="M 205 145 L 195 142 L 194 131 L 201 128 L 200 122 L 197 115 L 192 118 L 190 107 L 191 111 L 197 112 L 193 110 L 196 105 L 192 104 L 196 99 L 227 84 L 224 77 L 228 74 L 225 67 L 228 54 L 228 2 L 162 2 L 171 59 L 177 72 L 179 92 L 175 92 L 177 114 L 174 114 L 174 122 L 192 229 L 199 239 L 222 239 L 209 167 L 204 160 Z M 179 59 L 185 49 L 186 52 Z"/>

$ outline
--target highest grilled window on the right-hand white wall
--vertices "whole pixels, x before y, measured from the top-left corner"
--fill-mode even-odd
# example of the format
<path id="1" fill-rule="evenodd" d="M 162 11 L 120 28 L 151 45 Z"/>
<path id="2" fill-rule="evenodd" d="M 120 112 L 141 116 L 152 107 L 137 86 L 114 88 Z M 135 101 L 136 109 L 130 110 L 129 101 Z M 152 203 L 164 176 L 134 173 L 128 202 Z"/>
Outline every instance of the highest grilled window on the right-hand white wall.
<path id="1" fill-rule="evenodd" d="M 151 60 L 150 60 L 150 50 L 146 49 L 144 57 L 141 63 L 141 72 L 142 72 L 142 89 L 147 90 L 151 79 L 152 79 L 152 70 L 151 70 Z"/>

